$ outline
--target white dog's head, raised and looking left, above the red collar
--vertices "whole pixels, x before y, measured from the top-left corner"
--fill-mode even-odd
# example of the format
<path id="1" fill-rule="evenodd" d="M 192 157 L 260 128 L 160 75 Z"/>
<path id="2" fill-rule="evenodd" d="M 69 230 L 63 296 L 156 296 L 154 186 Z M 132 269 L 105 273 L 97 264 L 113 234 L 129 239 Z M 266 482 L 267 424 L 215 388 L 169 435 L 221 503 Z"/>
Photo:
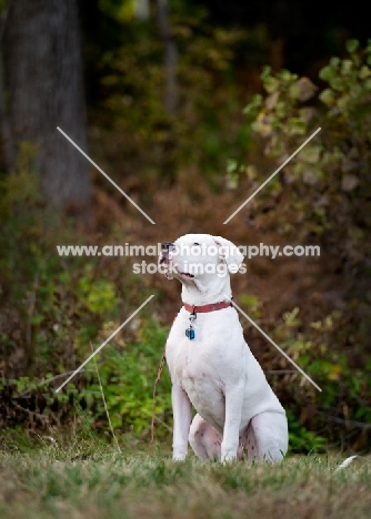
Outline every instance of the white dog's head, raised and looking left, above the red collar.
<path id="1" fill-rule="evenodd" d="M 209 292 L 229 286 L 229 274 L 237 273 L 243 255 L 233 243 L 210 234 L 186 234 L 162 244 L 159 269 L 168 279 L 178 278 L 187 289 Z"/>

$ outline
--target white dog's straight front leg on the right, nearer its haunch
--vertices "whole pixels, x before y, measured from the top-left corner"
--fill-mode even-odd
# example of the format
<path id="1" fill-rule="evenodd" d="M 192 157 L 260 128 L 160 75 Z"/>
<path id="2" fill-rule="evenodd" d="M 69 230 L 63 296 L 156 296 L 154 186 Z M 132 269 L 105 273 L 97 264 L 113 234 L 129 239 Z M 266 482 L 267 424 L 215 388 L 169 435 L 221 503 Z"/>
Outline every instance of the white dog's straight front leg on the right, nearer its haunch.
<path id="1" fill-rule="evenodd" d="M 223 441 L 221 444 L 221 460 L 230 461 L 237 458 L 240 439 L 244 385 L 233 385 L 225 388 L 225 421 Z"/>

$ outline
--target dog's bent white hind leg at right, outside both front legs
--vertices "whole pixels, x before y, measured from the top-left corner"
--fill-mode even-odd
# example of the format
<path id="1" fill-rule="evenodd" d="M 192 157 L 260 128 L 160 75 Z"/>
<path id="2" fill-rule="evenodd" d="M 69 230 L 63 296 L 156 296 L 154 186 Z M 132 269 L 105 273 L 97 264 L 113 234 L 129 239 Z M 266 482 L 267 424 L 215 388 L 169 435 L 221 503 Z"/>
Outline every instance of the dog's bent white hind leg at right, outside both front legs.
<path id="1" fill-rule="evenodd" d="M 243 440 L 249 460 L 282 461 L 288 450 L 288 420 L 285 415 L 264 411 L 254 416 L 247 427 Z"/>

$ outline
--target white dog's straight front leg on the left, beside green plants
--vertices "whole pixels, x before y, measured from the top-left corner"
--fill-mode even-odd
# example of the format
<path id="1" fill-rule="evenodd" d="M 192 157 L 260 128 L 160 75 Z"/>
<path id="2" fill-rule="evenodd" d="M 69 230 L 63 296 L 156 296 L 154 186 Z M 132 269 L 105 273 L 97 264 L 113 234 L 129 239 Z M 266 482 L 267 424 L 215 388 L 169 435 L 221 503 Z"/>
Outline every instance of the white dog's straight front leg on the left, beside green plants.
<path id="1" fill-rule="evenodd" d="M 183 460 L 188 452 L 188 436 L 191 425 L 191 403 L 177 384 L 171 389 L 173 413 L 172 458 Z"/>

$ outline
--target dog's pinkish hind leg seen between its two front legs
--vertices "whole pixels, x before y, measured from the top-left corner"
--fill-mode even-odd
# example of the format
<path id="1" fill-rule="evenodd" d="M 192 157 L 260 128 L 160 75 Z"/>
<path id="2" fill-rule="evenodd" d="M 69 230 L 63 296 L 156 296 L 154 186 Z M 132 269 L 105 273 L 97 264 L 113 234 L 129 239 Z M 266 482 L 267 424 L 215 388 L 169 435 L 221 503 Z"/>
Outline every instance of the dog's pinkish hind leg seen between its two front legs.
<path id="1" fill-rule="evenodd" d="M 220 459 L 223 437 L 200 415 L 195 415 L 189 432 L 189 442 L 194 454 L 205 459 Z"/>

